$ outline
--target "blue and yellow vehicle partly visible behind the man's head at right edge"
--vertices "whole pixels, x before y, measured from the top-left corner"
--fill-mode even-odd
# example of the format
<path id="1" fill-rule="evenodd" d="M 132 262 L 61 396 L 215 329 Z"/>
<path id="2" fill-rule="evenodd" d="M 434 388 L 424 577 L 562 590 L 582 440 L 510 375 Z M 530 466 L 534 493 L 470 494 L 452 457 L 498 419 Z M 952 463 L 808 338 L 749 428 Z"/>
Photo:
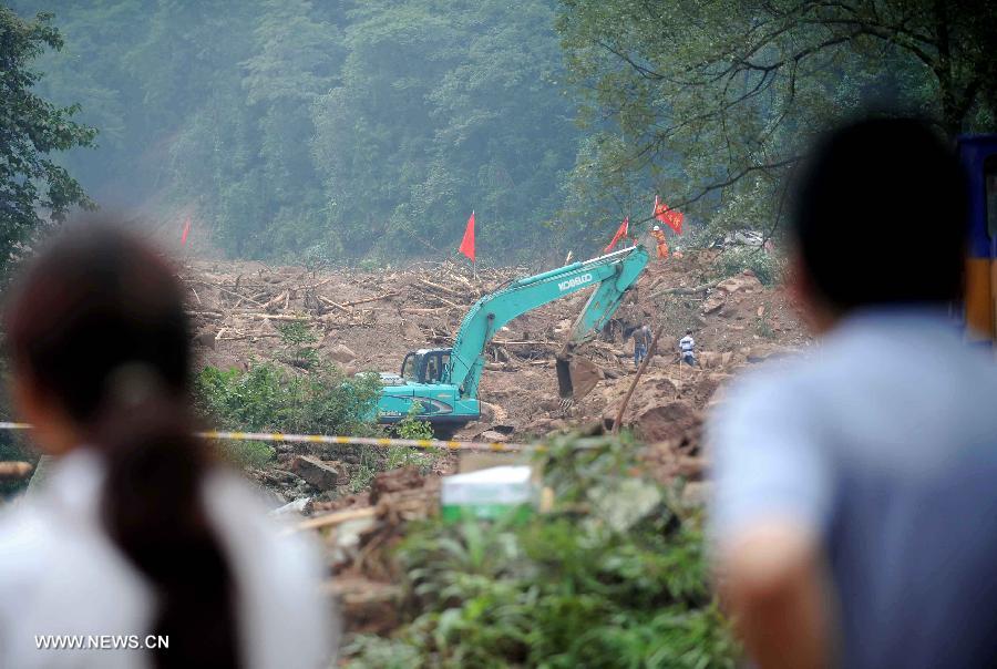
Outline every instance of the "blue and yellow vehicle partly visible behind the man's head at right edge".
<path id="1" fill-rule="evenodd" d="M 997 135 L 959 137 L 969 184 L 965 319 L 970 339 L 997 339 Z"/>

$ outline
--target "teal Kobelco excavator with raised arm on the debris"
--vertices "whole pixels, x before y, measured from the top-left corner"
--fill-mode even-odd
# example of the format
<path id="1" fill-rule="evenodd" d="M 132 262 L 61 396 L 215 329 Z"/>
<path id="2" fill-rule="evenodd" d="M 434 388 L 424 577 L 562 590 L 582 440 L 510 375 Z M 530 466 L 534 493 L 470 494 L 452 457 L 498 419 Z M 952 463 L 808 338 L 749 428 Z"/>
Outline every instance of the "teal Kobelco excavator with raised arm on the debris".
<path id="1" fill-rule="evenodd" d="M 482 297 L 464 316 L 452 348 L 412 351 L 402 361 L 399 374 L 381 373 L 378 421 L 397 423 L 410 414 L 413 405 L 419 420 L 429 421 L 438 434 L 452 433 L 477 420 L 477 384 L 485 347 L 500 328 L 527 311 L 595 286 L 557 354 L 561 399 L 569 405 L 574 395 L 569 368 L 574 350 L 609 321 L 647 261 L 647 250 L 633 246 L 517 279 Z"/>

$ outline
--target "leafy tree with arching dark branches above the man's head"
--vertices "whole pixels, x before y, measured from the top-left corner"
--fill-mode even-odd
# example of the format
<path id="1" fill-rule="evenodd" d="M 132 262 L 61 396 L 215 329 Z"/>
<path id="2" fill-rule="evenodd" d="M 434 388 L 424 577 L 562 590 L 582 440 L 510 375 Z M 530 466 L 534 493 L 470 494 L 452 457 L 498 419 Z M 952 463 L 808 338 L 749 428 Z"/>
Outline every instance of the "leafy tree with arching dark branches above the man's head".
<path id="1" fill-rule="evenodd" d="M 995 20 L 986 0 L 563 0 L 595 137 L 572 187 L 629 203 L 629 175 L 728 227 L 778 220 L 801 146 L 860 107 L 994 128 Z"/>

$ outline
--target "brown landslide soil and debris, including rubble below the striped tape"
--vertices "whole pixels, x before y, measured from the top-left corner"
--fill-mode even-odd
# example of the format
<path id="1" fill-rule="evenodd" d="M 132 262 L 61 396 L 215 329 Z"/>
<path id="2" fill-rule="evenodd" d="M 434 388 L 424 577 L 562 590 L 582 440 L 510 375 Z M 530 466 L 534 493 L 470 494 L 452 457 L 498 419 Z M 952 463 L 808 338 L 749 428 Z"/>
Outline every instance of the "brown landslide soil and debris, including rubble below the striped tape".
<path id="1" fill-rule="evenodd" d="M 621 426 L 640 444 L 635 447 L 650 477 L 681 482 L 681 502 L 701 504 L 709 486 L 700 450 L 705 411 L 722 400 L 733 374 L 809 346 L 784 288 L 763 285 L 750 269 L 723 276 L 726 253 L 700 249 L 651 260 L 610 327 L 576 352 L 576 360 L 588 362 L 578 366 L 575 385 L 588 392 L 567 413 L 555 354 L 588 291 L 510 322 L 486 349 L 481 420 L 455 439 L 524 443 L 608 432 L 635 375 L 634 341 L 624 334 L 643 323 L 662 326 Z M 203 259 L 188 260 L 181 271 L 201 367 L 247 370 L 266 362 L 294 374 L 309 372 L 278 354 L 286 353 L 286 323 L 307 328 L 318 359 L 347 374 L 398 372 L 407 352 L 449 346 L 475 299 L 530 274 L 515 267 L 474 274 L 454 263 L 359 270 Z M 678 364 L 676 343 L 687 329 L 697 341 L 696 369 Z M 392 548 L 410 523 L 438 514 L 441 476 L 524 457 L 440 452 L 389 459 L 369 446 L 282 443 L 269 462 L 246 469 L 274 507 L 284 507 L 281 515 L 321 537 L 335 576 L 328 588 L 340 598 L 349 631 L 390 635 L 402 622 L 405 597 Z"/>

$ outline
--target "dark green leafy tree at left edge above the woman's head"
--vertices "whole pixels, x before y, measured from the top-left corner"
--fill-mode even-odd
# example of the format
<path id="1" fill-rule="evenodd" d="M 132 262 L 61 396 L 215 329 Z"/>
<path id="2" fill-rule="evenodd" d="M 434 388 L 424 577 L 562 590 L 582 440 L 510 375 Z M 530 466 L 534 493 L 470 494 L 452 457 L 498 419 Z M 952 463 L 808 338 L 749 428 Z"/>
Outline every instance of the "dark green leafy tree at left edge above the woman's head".
<path id="1" fill-rule="evenodd" d="M 62 220 L 73 205 L 90 206 L 83 189 L 49 154 L 90 146 L 96 131 L 73 116 L 78 105 L 56 106 L 32 91 L 41 76 L 31 62 L 47 48 L 61 49 L 52 14 L 19 18 L 0 6 L 0 244 L 6 261 L 48 218 Z"/>

